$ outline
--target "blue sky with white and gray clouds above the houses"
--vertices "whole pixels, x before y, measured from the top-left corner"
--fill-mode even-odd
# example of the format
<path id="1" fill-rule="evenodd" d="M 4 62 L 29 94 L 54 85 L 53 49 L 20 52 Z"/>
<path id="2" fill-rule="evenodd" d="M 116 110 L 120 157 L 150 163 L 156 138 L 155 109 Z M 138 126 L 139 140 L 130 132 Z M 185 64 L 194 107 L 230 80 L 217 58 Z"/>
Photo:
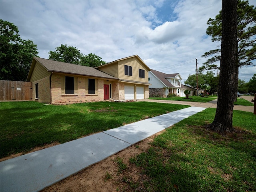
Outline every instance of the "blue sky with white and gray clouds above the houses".
<path id="1" fill-rule="evenodd" d="M 61 44 L 106 62 L 137 54 L 154 70 L 180 73 L 182 82 L 195 73 L 196 58 L 202 66 L 202 54 L 218 46 L 206 22 L 220 10 L 221 0 L 0 0 L 0 18 L 18 26 L 41 58 Z M 244 67 L 239 78 L 253 74 L 256 67 Z"/>

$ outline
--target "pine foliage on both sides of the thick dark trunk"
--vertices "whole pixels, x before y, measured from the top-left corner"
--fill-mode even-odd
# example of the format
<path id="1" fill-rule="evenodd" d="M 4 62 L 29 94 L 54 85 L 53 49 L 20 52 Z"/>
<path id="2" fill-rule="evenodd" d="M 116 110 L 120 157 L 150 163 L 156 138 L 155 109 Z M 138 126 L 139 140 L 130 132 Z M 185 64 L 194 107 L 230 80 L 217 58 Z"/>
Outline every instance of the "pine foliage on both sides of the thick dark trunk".
<path id="1" fill-rule="evenodd" d="M 207 22 L 209 25 L 206 34 L 212 36 L 212 42 L 220 42 L 222 37 L 222 12 Z M 256 59 L 256 8 L 250 6 L 248 1 L 238 0 L 237 4 L 237 50 L 236 50 L 236 89 L 238 88 L 238 70 L 241 66 L 254 66 L 252 60 Z M 202 57 L 212 56 L 200 71 L 214 70 L 218 66 L 214 62 L 220 60 L 220 48 L 204 53 Z M 237 91 L 236 91 L 237 92 Z M 236 100 L 236 94 L 234 96 Z"/>

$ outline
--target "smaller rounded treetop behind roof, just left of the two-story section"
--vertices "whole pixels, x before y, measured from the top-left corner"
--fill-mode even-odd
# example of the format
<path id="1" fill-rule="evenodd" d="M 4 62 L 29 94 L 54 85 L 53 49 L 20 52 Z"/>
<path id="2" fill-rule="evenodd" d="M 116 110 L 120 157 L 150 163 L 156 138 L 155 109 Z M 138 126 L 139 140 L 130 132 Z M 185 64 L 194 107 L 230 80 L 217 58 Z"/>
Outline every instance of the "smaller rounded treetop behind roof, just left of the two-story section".
<path id="1" fill-rule="evenodd" d="M 97 67 L 103 64 L 106 64 L 106 62 L 101 57 L 92 53 L 82 56 L 80 60 L 80 65 L 83 66 Z"/>

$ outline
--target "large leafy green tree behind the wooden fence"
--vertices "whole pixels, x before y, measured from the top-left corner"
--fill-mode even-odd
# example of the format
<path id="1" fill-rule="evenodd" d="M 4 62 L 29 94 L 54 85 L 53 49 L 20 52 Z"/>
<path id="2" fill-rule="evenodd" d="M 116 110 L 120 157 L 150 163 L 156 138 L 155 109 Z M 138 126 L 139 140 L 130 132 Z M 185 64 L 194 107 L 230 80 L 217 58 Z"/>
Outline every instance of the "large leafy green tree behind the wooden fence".
<path id="1" fill-rule="evenodd" d="M 0 79 L 26 81 L 32 58 L 38 54 L 31 40 L 22 40 L 18 27 L 0 20 Z"/>

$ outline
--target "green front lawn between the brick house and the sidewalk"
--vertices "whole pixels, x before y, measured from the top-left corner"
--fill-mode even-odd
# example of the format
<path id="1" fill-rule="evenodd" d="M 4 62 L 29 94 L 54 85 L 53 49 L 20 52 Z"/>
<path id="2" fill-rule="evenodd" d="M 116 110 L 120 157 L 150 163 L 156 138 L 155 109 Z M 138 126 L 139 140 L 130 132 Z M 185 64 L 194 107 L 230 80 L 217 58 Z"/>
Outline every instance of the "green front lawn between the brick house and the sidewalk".
<path id="1" fill-rule="evenodd" d="M 1 102 L 1 158 L 64 143 L 188 106 L 153 102 L 94 102 L 62 106 Z"/>

